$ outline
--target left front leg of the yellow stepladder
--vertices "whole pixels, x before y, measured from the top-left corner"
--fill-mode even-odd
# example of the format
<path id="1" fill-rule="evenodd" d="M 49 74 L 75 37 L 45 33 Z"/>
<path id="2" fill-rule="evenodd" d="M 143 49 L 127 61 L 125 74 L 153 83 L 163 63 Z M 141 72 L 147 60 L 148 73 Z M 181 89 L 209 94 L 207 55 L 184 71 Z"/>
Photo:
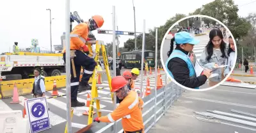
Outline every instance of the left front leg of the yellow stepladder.
<path id="1" fill-rule="evenodd" d="M 97 81 L 97 66 L 98 66 L 98 62 L 97 60 L 99 59 L 99 41 L 97 41 L 96 43 L 96 57 L 95 57 L 95 61 L 97 63 L 97 65 L 95 66 L 95 69 L 93 71 L 93 74 L 92 74 L 92 97 L 91 97 L 91 102 L 90 102 L 90 109 L 89 109 L 89 115 L 88 115 L 88 125 L 90 125 L 93 121 L 93 106 L 94 106 L 94 101 L 95 101 L 95 97 L 96 95 L 98 94 L 97 93 L 97 87 L 96 87 L 96 81 Z M 97 111 L 98 113 L 99 111 Z M 98 113 L 99 115 L 99 113 Z"/>

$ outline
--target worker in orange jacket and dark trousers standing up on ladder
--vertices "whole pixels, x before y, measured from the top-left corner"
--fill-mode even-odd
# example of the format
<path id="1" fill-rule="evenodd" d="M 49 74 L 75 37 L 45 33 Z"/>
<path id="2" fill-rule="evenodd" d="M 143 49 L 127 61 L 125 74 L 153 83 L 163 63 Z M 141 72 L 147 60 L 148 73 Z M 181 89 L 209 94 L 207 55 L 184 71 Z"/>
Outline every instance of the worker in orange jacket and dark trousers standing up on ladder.
<path id="1" fill-rule="evenodd" d="M 82 81 L 79 83 L 79 87 L 72 86 L 71 87 L 71 106 L 84 106 L 84 102 L 77 101 L 77 90 L 91 90 L 92 87 L 88 84 L 88 81 L 90 80 L 90 77 L 92 76 L 93 70 L 95 69 L 95 66 L 97 65 L 97 62 L 95 62 L 94 59 L 88 56 L 89 49 L 86 46 L 86 41 L 89 41 L 88 38 L 89 31 L 94 31 L 104 24 L 104 19 L 100 15 L 95 15 L 91 19 L 88 20 L 88 22 L 83 22 L 76 27 L 74 27 L 73 31 L 70 32 L 70 50 L 76 50 L 75 54 L 76 57 L 74 57 L 74 64 L 76 69 L 76 75 L 77 77 L 74 78 L 73 73 L 71 76 L 71 83 L 79 82 L 79 74 L 81 70 L 81 66 L 84 68 L 84 74 Z M 63 49 L 63 59 L 64 62 L 66 62 L 66 50 Z M 70 71 L 72 72 L 72 65 L 70 64 Z"/>

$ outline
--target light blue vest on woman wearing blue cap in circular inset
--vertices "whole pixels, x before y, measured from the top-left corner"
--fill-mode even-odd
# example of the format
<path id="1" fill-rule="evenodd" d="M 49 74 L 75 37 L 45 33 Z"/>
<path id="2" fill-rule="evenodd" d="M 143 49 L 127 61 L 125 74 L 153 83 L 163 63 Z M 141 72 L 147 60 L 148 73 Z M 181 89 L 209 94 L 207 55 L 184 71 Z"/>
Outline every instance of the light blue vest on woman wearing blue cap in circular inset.
<path id="1" fill-rule="evenodd" d="M 189 78 L 195 78 L 196 77 L 195 69 L 194 69 L 194 66 L 193 66 L 191 60 L 189 59 L 188 55 L 181 52 L 180 50 L 173 50 L 172 54 L 170 55 L 170 57 L 166 61 L 166 64 L 165 64 L 166 68 L 168 68 L 168 62 L 173 58 L 180 58 L 180 59 L 184 60 L 188 64 Z M 169 69 L 167 69 L 167 72 L 173 78 L 173 74 Z M 196 87 L 196 89 L 199 89 L 199 87 Z"/>

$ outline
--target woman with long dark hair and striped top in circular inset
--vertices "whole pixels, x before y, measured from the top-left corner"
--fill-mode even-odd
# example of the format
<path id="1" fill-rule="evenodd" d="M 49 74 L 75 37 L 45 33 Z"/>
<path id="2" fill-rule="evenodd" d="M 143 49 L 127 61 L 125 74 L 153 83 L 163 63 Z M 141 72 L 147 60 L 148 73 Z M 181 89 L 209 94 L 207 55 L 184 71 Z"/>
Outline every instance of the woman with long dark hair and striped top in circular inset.
<path id="1" fill-rule="evenodd" d="M 209 38 L 210 40 L 205 46 L 199 62 L 207 69 L 211 69 L 212 73 L 218 74 L 218 76 L 209 79 L 209 86 L 212 87 L 225 78 L 223 75 L 224 67 L 218 68 L 218 66 L 225 65 L 228 45 L 223 41 L 223 34 L 220 29 L 212 29 Z"/>

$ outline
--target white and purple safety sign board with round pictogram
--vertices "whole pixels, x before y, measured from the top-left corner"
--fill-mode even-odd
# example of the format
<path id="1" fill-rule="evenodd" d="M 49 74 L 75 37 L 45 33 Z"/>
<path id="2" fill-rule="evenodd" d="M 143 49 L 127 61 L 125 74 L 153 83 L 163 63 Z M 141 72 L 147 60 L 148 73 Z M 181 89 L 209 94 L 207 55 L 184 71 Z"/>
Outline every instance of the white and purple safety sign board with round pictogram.
<path id="1" fill-rule="evenodd" d="M 31 133 L 51 129 L 48 106 L 45 97 L 27 100 L 26 111 L 29 118 L 29 127 Z"/>

